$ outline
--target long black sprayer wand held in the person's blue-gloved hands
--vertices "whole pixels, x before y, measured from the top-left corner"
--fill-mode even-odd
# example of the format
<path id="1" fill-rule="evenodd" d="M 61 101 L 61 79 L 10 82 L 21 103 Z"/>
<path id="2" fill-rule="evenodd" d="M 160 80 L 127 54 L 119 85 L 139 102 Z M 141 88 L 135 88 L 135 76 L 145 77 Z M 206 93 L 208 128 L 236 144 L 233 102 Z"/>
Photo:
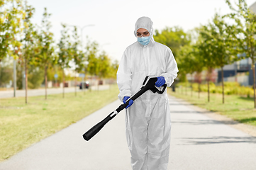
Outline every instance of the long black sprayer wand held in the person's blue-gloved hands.
<path id="1" fill-rule="evenodd" d="M 157 81 L 157 77 L 146 77 L 143 82 L 143 86 L 140 88 L 140 91 L 138 91 L 136 94 L 131 96 L 126 101 L 126 103 L 121 104 L 121 106 L 119 106 L 115 111 L 110 113 L 106 118 L 104 118 L 104 120 L 101 120 L 101 122 L 97 123 L 96 125 L 94 125 L 94 127 L 92 127 L 90 130 L 85 132 L 83 135 L 84 140 L 89 141 L 91 137 L 94 137 L 94 135 L 96 135 L 99 132 L 99 130 L 101 130 L 104 127 L 104 125 L 106 125 L 106 123 L 109 122 L 109 120 L 113 119 L 120 111 L 122 111 L 124 108 L 126 108 L 126 106 L 128 106 L 130 100 L 135 101 L 135 99 L 141 96 L 142 94 L 144 94 L 145 91 L 151 90 L 153 93 L 155 92 L 157 92 L 158 94 L 164 93 L 167 85 L 164 84 L 162 87 L 160 87 L 160 89 L 157 89 L 157 87 L 155 86 L 156 81 Z"/>

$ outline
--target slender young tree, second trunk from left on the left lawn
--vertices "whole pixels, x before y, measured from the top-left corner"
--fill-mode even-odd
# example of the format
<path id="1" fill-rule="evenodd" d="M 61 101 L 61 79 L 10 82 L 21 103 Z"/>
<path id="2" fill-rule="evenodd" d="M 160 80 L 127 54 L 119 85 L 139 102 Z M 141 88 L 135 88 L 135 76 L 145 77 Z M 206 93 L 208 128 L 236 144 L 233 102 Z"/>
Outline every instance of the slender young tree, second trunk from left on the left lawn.
<path id="1" fill-rule="evenodd" d="M 40 67 L 45 69 L 45 100 L 47 99 L 47 86 L 48 86 L 48 79 L 47 79 L 47 70 L 50 64 L 54 62 L 54 47 L 53 44 L 53 34 L 50 32 L 50 13 L 47 12 L 47 8 L 45 8 L 45 12 L 43 13 L 43 20 L 42 26 L 40 30 L 40 35 L 38 36 L 38 45 L 40 47 L 40 53 L 38 55 L 38 64 Z"/>

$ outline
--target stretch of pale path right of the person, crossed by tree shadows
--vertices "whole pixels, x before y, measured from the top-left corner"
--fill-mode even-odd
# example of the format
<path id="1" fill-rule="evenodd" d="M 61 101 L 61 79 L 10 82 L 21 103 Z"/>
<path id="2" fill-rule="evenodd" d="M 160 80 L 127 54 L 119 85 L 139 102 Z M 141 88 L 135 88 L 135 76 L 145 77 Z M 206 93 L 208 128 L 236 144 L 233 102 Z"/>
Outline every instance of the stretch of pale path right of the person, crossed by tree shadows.
<path id="1" fill-rule="evenodd" d="M 169 169 L 255 169 L 256 137 L 233 128 L 235 122 L 213 119 L 215 113 L 191 106 L 182 99 L 170 97 L 170 107 Z"/>

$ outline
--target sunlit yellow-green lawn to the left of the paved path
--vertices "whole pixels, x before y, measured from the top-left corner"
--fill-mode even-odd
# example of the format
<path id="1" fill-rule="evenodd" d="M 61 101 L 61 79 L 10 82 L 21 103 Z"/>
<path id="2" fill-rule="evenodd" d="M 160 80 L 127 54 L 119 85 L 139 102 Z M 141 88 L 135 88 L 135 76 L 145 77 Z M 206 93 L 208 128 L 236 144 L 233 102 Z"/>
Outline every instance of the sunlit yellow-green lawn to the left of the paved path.
<path id="1" fill-rule="evenodd" d="M 104 91 L 0 99 L 0 162 L 115 101 L 117 86 Z"/>

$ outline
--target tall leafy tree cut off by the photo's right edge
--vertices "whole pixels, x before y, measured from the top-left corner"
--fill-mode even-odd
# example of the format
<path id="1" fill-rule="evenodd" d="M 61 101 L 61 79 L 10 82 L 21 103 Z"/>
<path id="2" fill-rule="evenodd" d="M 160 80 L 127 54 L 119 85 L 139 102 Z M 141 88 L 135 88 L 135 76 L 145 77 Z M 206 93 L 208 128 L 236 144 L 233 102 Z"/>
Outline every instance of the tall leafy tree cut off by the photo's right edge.
<path id="1" fill-rule="evenodd" d="M 255 55 L 256 55 L 256 14 L 247 7 L 245 0 L 239 0 L 237 9 L 235 9 L 229 0 L 226 3 L 233 11 L 224 17 L 228 17 L 235 21 L 235 25 L 228 27 L 228 32 L 238 41 L 238 47 L 235 49 L 238 53 L 246 53 L 246 57 L 252 60 L 253 72 L 253 90 L 254 90 L 254 103 L 256 108 L 256 94 L 255 94 Z"/>

